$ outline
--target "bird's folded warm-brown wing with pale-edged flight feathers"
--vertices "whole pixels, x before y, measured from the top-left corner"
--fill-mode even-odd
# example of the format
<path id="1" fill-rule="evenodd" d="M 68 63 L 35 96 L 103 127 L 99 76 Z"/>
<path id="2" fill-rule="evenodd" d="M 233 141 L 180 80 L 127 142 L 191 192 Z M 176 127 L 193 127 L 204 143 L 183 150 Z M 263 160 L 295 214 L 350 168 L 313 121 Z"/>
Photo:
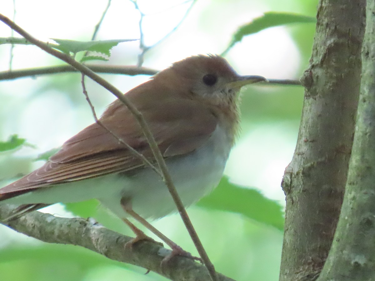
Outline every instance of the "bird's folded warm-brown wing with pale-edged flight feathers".
<path id="1" fill-rule="evenodd" d="M 183 155 L 201 146 L 215 130 L 217 119 L 193 100 L 170 99 L 142 103 L 143 114 L 164 157 Z M 133 115 L 116 100 L 101 118 L 104 129 L 94 123 L 66 141 L 42 167 L 0 189 L 0 200 L 63 182 L 78 181 L 144 166 L 123 143 L 151 162 L 153 155 Z M 110 133 L 111 131 L 112 133 Z"/>

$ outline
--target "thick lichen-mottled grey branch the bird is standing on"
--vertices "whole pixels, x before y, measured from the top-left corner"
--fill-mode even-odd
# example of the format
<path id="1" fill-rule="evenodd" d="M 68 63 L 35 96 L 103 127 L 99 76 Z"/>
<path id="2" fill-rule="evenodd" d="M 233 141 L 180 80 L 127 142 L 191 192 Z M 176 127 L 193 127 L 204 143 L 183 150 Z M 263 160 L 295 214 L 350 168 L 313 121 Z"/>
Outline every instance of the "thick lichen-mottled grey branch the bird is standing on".
<path id="1" fill-rule="evenodd" d="M 9 205 L 1 205 L 0 218 L 8 217 L 13 211 Z M 93 220 L 60 218 L 35 211 L 9 222 L 7 226 L 47 243 L 81 246 L 109 259 L 141 266 L 171 280 L 211 280 L 204 265 L 186 257 L 177 256 L 163 263 L 161 268 L 162 260 L 171 250 L 151 241 L 125 248 L 132 237 L 107 229 Z M 220 281 L 233 281 L 222 274 L 217 274 L 217 277 Z"/>

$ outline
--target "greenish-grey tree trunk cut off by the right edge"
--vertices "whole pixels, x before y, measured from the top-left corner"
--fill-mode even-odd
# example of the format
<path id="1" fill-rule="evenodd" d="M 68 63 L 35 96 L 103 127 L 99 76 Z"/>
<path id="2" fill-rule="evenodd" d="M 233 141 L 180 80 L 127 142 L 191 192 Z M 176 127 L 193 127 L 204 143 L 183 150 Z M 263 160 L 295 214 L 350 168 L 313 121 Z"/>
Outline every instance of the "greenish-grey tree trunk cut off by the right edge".
<path id="1" fill-rule="evenodd" d="M 356 133 L 335 239 L 319 280 L 375 280 L 375 0 L 366 7 Z"/>

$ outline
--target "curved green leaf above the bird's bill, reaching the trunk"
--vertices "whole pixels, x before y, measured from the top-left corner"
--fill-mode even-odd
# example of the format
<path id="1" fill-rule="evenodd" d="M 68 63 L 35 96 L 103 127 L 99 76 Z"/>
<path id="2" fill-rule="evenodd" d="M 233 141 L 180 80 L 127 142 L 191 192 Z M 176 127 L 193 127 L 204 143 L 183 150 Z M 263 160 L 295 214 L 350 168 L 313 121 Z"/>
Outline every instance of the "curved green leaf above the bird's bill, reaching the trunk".
<path id="1" fill-rule="evenodd" d="M 234 33 L 233 38 L 229 46 L 225 49 L 222 55 L 226 54 L 234 44 L 240 42 L 242 38 L 249 34 L 257 33 L 269 27 L 293 24 L 293 23 L 311 23 L 317 22 L 317 19 L 312 16 L 299 15 L 296 13 L 284 13 L 284 12 L 267 12 L 259 18 L 253 19 L 248 24 L 245 24 L 238 28 Z"/>

